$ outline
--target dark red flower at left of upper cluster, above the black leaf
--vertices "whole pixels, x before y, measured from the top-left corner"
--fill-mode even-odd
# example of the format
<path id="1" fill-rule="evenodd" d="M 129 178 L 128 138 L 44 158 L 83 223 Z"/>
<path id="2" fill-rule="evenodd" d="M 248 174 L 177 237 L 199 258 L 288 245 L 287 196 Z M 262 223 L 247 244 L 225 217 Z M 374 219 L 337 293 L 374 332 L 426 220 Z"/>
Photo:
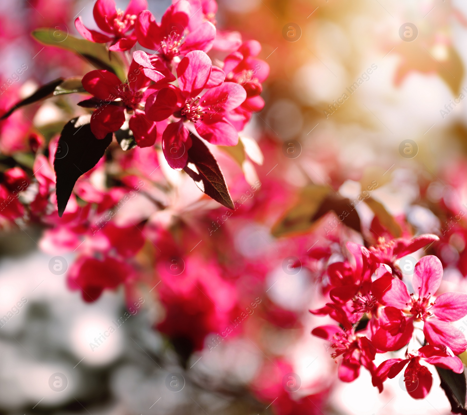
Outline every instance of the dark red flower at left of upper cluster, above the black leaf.
<path id="1" fill-rule="evenodd" d="M 172 78 L 169 78 L 172 79 Z M 143 103 L 154 89 L 151 86 L 144 92 L 151 80 L 169 80 L 149 61 L 148 55 L 138 50 L 133 53 L 133 61 L 128 70 L 128 80 L 122 83 L 107 70 L 92 70 L 82 80 L 86 91 L 94 96 L 82 101 L 81 106 L 97 107 L 91 117 L 91 131 L 97 139 L 117 131 L 125 122 L 125 110 L 132 113 L 129 127 L 133 131 L 138 146 L 149 147 L 156 141 L 156 124 L 150 122 L 143 113 Z"/>

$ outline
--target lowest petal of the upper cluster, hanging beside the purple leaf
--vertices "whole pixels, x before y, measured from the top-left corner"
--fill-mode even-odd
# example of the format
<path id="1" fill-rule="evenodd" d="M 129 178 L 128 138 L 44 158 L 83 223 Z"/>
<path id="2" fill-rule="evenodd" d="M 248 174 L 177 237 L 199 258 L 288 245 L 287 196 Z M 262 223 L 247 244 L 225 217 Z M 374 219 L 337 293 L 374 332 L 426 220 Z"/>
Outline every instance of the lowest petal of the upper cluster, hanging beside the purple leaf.
<path id="1" fill-rule="evenodd" d="M 172 169 L 183 169 L 188 160 L 191 138 L 182 121 L 169 124 L 162 134 L 162 150 Z"/>

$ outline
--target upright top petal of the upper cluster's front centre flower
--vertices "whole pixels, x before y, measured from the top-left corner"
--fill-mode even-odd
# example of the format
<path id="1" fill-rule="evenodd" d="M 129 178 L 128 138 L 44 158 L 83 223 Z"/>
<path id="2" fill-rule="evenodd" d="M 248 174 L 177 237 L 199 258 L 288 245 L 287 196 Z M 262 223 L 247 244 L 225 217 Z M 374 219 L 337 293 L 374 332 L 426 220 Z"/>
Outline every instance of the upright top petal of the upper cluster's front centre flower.
<path id="1" fill-rule="evenodd" d="M 177 66 L 178 86 L 187 95 L 195 97 L 205 87 L 211 69 L 211 59 L 204 52 L 188 52 Z"/>

